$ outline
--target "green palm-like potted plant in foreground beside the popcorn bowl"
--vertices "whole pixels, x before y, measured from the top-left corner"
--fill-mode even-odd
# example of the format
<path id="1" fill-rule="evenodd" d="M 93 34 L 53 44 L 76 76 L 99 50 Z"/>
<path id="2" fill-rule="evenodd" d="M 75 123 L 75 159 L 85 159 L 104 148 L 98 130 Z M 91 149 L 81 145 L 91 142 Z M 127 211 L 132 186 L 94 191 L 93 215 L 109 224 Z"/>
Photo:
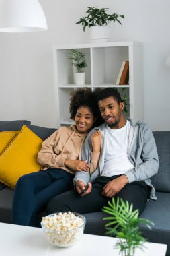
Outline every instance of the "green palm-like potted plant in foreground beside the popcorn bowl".
<path id="1" fill-rule="evenodd" d="M 153 222 L 145 218 L 138 218 L 138 209 L 133 211 L 133 205 L 129 205 L 128 201 L 124 203 L 119 198 L 115 201 L 113 197 L 112 202 L 109 201 L 108 205 L 109 207 L 104 206 L 102 210 L 111 216 L 105 217 L 103 220 L 110 220 L 105 224 L 105 228 L 108 230 L 107 234 L 118 238 L 115 247 L 120 249 L 120 254 L 132 256 L 136 248 L 143 250 L 143 243 L 146 239 L 142 237 L 139 225 L 144 224 L 151 229 Z"/>

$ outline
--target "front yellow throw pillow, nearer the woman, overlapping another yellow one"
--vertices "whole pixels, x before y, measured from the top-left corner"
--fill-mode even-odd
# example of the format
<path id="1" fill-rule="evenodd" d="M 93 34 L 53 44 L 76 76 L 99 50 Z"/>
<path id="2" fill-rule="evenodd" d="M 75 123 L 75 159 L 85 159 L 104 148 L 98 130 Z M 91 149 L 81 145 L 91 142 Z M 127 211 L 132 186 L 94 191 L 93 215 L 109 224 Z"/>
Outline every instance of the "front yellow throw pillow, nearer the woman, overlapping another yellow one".
<path id="1" fill-rule="evenodd" d="M 36 158 L 41 147 L 42 139 L 23 125 L 0 156 L 0 181 L 14 189 L 19 177 L 40 170 Z"/>

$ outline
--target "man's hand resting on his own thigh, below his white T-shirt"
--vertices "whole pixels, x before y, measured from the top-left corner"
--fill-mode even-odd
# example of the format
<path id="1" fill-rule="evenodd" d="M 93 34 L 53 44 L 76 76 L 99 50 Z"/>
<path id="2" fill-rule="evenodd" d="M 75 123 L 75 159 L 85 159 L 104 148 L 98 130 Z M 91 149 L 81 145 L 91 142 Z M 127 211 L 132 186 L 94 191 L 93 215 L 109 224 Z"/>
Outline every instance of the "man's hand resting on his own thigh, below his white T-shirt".
<path id="1" fill-rule="evenodd" d="M 128 183 L 128 178 L 126 175 L 122 175 L 112 181 L 109 181 L 104 187 L 101 195 L 105 197 L 114 197 L 126 184 Z"/>

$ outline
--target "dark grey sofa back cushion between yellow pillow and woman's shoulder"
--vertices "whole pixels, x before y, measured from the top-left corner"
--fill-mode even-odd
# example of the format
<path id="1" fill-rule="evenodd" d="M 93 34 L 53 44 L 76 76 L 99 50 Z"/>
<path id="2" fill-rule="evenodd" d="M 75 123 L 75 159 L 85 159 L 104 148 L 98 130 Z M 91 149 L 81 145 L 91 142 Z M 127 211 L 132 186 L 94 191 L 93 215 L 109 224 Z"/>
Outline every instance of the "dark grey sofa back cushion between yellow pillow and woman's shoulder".
<path id="1" fill-rule="evenodd" d="M 40 137 L 42 140 L 47 139 L 56 131 L 55 128 L 46 128 L 46 127 L 41 127 L 37 125 L 26 125 L 30 130 L 32 130 L 38 137 Z"/>

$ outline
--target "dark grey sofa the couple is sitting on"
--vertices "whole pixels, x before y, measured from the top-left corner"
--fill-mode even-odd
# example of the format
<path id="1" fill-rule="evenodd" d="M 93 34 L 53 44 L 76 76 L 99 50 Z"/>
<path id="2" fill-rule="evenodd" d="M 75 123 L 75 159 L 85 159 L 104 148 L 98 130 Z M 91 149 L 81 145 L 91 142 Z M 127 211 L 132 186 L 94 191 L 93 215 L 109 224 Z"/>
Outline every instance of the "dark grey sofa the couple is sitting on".
<path id="1" fill-rule="evenodd" d="M 31 125 L 29 121 L 0 121 L 0 131 L 19 130 L 22 125 L 27 125 L 43 140 L 50 136 L 56 129 Z M 159 172 L 152 178 L 152 183 L 157 191 L 157 201 L 148 201 L 142 218 L 148 218 L 155 226 L 148 230 L 141 226 L 145 238 L 150 242 L 167 244 L 167 256 L 170 256 L 170 131 L 154 131 L 153 135 L 159 154 Z M 0 222 L 11 222 L 11 204 L 13 190 L 0 183 Z M 46 212 L 41 212 L 40 217 Z M 103 212 L 85 214 L 87 224 L 85 233 L 105 235 L 105 222 Z"/>

